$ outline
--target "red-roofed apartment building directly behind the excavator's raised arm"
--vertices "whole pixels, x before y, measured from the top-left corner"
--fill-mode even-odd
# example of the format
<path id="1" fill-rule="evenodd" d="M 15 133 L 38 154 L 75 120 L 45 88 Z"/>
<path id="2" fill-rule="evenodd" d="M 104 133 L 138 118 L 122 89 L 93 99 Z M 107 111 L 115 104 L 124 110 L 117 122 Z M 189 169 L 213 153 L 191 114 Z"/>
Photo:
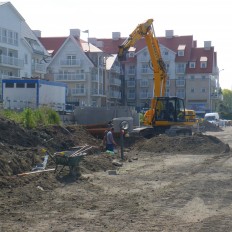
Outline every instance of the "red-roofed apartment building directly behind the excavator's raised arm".
<path id="1" fill-rule="evenodd" d="M 115 53 L 115 47 L 124 40 L 120 37 L 111 41 L 97 39 L 101 42 L 101 49 L 108 53 Z M 164 37 L 158 37 L 158 41 L 168 74 L 166 96 L 185 99 L 186 107 L 198 114 L 214 111 L 221 100 L 221 93 L 217 53 L 211 41 L 205 41 L 204 47 L 197 47 L 192 35 L 174 36 L 173 30 L 167 30 Z M 128 51 L 121 66 L 124 104 L 138 109 L 149 107 L 154 76 L 144 39 L 137 41 Z"/>

